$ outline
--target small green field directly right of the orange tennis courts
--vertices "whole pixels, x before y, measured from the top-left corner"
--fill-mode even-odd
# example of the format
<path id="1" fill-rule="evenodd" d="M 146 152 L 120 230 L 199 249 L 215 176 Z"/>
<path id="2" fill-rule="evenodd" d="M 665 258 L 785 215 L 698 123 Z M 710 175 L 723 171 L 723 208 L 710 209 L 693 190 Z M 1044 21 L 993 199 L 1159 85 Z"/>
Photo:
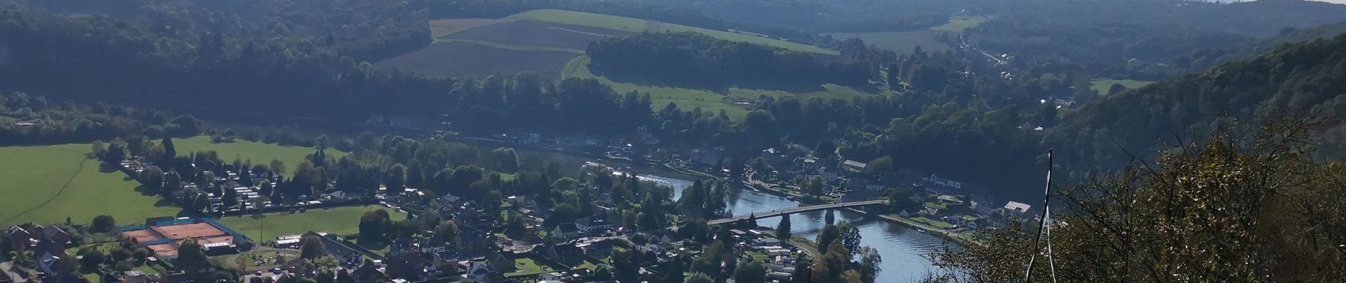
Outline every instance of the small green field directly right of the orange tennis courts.
<path id="1" fill-rule="evenodd" d="M 254 241 L 276 240 L 276 236 L 302 235 L 308 231 L 351 235 L 359 232 L 359 217 L 367 211 L 386 209 L 393 220 L 406 215 L 378 205 L 310 209 L 303 213 L 245 215 L 221 219 L 219 223 L 248 235 Z"/>

